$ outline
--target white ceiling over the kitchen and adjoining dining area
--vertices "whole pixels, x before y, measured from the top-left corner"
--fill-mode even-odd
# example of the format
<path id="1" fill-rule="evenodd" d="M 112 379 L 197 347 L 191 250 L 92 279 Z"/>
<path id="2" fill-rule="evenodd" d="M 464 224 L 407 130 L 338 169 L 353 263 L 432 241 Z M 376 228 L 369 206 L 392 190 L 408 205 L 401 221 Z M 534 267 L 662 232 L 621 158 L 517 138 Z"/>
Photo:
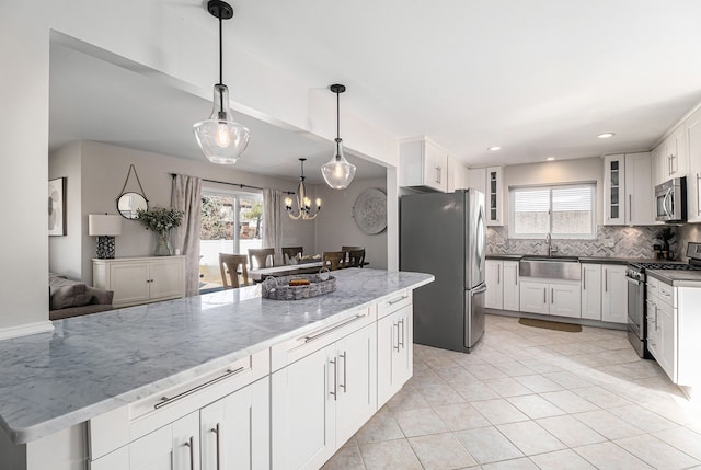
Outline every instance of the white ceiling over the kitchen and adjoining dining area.
<path id="1" fill-rule="evenodd" d="M 200 0 L 162 2 L 204 27 L 216 25 Z M 310 88 L 345 83 L 344 110 L 397 138 L 427 135 L 466 165 L 650 149 L 701 102 L 698 0 L 232 4 L 226 35 L 238 47 Z M 191 126 L 193 116 L 209 114 L 209 102 L 60 46 L 51 48 L 50 70 L 53 148 L 84 138 L 200 158 Z M 149 108 L 143 100 L 172 106 L 156 131 L 152 116 L 134 112 L 137 102 Z M 253 136 L 241 170 L 289 177 L 298 157 L 311 165 L 331 156 L 329 142 L 239 121 Z M 597 139 L 604 131 L 617 135 Z M 503 149 L 487 151 L 493 145 Z M 383 174 L 354 163 L 359 177 Z"/>

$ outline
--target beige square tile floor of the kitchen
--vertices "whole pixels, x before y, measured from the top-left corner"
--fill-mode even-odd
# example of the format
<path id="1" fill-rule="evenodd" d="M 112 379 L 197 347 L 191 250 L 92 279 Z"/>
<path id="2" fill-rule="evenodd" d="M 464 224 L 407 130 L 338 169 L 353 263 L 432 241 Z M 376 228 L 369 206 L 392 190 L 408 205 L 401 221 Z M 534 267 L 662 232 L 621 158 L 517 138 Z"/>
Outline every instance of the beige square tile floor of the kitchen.
<path id="1" fill-rule="evenodd" d="M 624 332 L 487 316 L 472 354 L 415 345 L 414 377 L 323 468 L 701 469 L 701 410 Z"/>

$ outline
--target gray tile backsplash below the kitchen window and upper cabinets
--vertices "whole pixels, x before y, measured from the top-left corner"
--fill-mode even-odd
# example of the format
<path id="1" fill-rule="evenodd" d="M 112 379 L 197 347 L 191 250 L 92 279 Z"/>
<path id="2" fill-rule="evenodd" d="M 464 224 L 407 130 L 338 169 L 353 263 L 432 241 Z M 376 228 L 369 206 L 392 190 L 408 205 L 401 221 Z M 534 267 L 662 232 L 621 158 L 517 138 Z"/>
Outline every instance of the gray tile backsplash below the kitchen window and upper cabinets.
<path id="1" fill-rule="evenodd" d="M 614 256 L 653 257 L 653 244 L 662 244 L 657 233 L 666 226 L 653 227 L 612 227 L 598 226 L 594 240 L 553 239 L 559 255 L 573 256 Z M 688 238 L 699 239 L 698 226 L 671 227 L 676 232 L 669 245 L 675 259 L 680 259 L 677 247 L 686 249 Z M 687 229 L 687 227 L 697 227 Z M 681 233 L 680 233 L 681 232 Z M 687 233 L 690 232 L 690 233 Z M 507 227 L 487 227 L 486 248 L 489 254 L 547 254 L 545 238 L 542 240 L 509 239 Z M 696 241 L 692 240 L 692 241 Z M 679 242 L 679 243 L 678 243 Z"/>

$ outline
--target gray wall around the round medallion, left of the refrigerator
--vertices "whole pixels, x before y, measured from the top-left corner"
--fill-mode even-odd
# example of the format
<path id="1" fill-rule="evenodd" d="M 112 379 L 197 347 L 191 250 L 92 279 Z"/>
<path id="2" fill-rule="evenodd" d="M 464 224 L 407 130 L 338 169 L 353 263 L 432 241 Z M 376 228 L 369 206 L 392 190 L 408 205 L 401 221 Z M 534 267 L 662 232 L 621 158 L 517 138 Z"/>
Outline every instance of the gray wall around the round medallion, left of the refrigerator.
<path id="1" fill-rule="evenodd" d="M 353 205 L 365 190 L 378 187 L 387 193 L 387 180 L 353 181 L 345 191 L 318 186 L 323 202 L 323 211 L 317 217 L 315 252 L 338 251 L 342 245 L 365 247 L 365 259 L 369 267 L 386 270 L 388 266 L 387 230 L 378 234 L 367 234 L 358 228 L 353 218 Z"/>

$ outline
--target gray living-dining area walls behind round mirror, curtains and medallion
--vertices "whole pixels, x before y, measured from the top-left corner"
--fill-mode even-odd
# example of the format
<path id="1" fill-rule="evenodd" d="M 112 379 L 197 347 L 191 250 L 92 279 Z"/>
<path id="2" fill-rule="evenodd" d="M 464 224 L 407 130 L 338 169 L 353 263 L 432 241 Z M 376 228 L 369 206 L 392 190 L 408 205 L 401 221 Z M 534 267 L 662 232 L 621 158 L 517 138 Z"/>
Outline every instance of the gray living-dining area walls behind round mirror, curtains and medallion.
<path id="1" fill-rule="evenodd" d="M 171 173 L 188 174 L 209 180 L 243 183 L 258 187 L 296 191 L 296 175 L 288 180 L 273 179 L 202 161 L 137 151 L 92 141 L 72 142 L 49 158 L 50 174 L 70 175 L 70 219 L 67 237 L 53 237 L 49 270 L 69 277 L 92 283 L 92 257 L 95 237 L 88 234 L 88 215 L 118 214 L 116 198 L 122 192 L 129 164 L 134 163 L 150 207 L 170 206 Z M 205 183 L 210 187 L 231 190 L 231 186 Z M 302 245 L 306 253 L 336 250 L 342 244 L 365 245 L 372 267 L 387 266 L 387 233 L 366 236 L 355 225 L 350 208 L 367 187 L 384 191 L 386 180 L 354 181 L 347 191 L 334 191 L 325 185 L 308 185 L 310 197 L 321 197 L 323 213 L 313 221 L 283 217 L 283 244 Z M 125 191 L 140 191 L 134 175 Z M 235 191 L 246 191 L 235 187 Z M 255 190 L 248 190 L 255 191 Z M 116 238 L 115 254 L 120 256 L 149 255 L 153 249 L 153 233 L 137 221 L 123 220 L 122 236 Z"/>

